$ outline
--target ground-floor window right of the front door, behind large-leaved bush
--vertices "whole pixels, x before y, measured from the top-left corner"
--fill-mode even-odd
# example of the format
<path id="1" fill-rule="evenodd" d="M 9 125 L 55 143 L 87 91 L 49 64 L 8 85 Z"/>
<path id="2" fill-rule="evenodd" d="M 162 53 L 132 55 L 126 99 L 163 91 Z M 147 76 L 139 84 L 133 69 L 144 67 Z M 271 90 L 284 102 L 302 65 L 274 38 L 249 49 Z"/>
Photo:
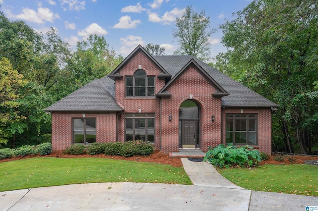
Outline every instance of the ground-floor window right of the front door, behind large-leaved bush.
<path id="1" fill-rule="evenodd" d="M 257 114 L 226 114 L 226 143 L 257 144 Z"/>

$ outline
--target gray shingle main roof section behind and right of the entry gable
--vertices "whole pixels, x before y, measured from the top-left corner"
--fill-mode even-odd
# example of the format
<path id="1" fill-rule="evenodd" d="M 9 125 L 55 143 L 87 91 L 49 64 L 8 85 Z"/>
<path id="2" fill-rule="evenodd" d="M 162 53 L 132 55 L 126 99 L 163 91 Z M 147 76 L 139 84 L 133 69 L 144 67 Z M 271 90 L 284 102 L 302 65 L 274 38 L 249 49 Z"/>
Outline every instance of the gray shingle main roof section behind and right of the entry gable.
<path id="1" fill-rule="evenodd" d="M 229 96 L 222 97 L 222 106 L 234 107 L 278 107 L 277 104 L 248 89 L 207 63 L 189 55 L 154 56 L 159 64 L 173 76 L 192 58 L 223 88 Z"/>

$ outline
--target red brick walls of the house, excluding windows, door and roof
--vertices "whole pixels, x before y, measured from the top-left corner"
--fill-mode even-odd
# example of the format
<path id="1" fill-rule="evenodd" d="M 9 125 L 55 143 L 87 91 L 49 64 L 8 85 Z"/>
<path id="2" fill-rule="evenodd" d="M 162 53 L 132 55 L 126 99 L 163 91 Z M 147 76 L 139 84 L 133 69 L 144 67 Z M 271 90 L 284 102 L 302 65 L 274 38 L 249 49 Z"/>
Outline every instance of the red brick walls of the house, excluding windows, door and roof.
<path id="1" fill-rule="evenodd" d="M 141 65 L 141 66 L 140 66 Z M 221 98 L 212 94 L 216 86 L 194 64 L 189 65 L 167 88 L 170 97 L 125 98 L 125 76 L 133 76 L 138 69 L 147 75 L 156 76 L 155 93 L 164 86 L 164 78 L 158 75 L 160 67 L 142 51 L 137 51 L 118 70 L 122 78 L 115 80 L 115 98 L 123 112 L 88 113 L 85 117 L 96 118 L 96 142 L 124 142 L 125 113 L 155 113 L 155 149 L 164 153 L 179 150 L 179 107 L 182 102 L 192 99 L 199 107 L 200 148 L 206 152 L 210 146 L 225 143 L 225 122 L 227 113 L 240 113 L 241 110 L 222 109 Z M 260 152 L 271 152 L 271 113 L 270 108 L 244 109 L 244 113 L 258 114 L 257 146 Z M 53 150 L 63 150 L 72 144 L 72 118 L 82 113 L 52 112 Z M 172 116 L 169 121 L 169 115 Z M 214 116 L 214 121 L 211 117 Z"/>

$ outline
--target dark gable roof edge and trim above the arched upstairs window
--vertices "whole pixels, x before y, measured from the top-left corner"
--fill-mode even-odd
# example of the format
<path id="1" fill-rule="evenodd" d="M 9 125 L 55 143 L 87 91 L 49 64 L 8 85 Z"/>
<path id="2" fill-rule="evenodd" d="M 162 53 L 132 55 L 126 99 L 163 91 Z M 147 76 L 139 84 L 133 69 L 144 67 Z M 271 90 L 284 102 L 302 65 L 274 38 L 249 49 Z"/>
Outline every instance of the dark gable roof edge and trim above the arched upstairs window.
<path id="1" fill-rule="evenodd" d="M 109 73 L 108 77 L 113 79 L 121 78 L 122 75 L 118 73 L 118 70 L 120 70 L 120 68 L 139 51 L 142 51 L 143 53 L 145 53 L 146 56 L 159 67 L 159 69 L 162 71 L 159 77 L 168 77 L 168 78 L 171 77 L 171 75 L 159 64 L 159 62 L 156 59 L 154 59 L 154 57 L 150 55 L 141 45 L 138 45 L 137 48 L 132 53 L 130 53 L 111 73 Z"/>

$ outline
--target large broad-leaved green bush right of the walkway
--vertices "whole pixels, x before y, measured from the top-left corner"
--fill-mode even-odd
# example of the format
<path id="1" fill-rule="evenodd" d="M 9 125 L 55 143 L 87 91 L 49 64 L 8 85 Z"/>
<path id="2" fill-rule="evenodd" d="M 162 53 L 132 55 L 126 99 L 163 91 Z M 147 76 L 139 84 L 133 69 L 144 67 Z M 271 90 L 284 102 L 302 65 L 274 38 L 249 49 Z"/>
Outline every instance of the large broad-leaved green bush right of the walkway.
<path id="1" fill-rule="evenodd" d="M 261 157 L 257 150 L 252 149 L 253 148 L 248 145 L 236 148 L 233 146 L 233 143 L 229 143 L 227 147 L 225 147 L 224 144 L 220 144 L 215 148 L 209 147 L 204 161 L 208 160 L 208 162 L 220 168 L 232 165 L 241 167 L 257 165 L 258 162 L 261 161 Z"/>

